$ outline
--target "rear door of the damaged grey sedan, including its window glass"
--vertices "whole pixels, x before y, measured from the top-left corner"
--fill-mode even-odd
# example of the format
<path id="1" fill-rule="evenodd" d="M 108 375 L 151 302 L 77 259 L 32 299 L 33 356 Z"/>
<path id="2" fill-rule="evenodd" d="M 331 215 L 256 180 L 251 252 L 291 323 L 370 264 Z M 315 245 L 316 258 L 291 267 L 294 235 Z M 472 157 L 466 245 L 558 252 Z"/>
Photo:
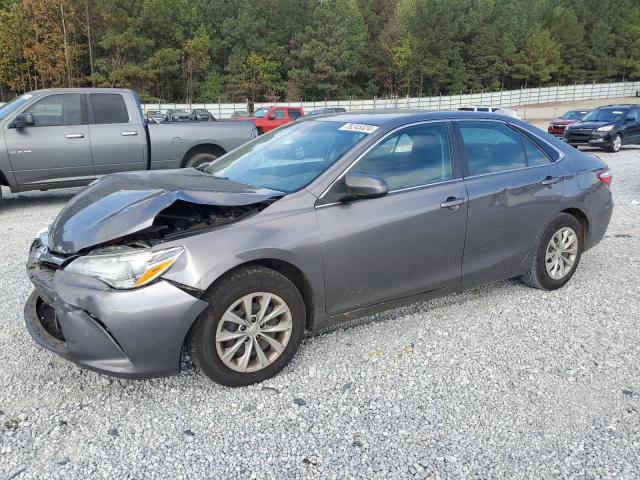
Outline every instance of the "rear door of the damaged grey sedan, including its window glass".
<path id="1" fill-rule="evenodd" d="M 469 194 L 462 281 L 497 278 L 516 269 L 535 245 L 562 198 L 564 177 L 533 136 L 507 123 L 454 124 Z"/>

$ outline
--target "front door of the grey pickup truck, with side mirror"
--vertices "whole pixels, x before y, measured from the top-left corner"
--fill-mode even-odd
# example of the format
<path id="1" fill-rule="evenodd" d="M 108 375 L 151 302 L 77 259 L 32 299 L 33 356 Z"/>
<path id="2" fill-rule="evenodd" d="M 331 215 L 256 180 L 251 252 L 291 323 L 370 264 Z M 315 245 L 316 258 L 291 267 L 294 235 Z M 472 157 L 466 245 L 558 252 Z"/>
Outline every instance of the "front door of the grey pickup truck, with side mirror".
<path id="1" fill-rule="evenodd" d="M 80 93 L 56 93 L 36 100 L 19 113 L 35 125 L 5 125 L 11 168 L 20 185 L 73 182 L 94 175 L 89 126 Z"/>

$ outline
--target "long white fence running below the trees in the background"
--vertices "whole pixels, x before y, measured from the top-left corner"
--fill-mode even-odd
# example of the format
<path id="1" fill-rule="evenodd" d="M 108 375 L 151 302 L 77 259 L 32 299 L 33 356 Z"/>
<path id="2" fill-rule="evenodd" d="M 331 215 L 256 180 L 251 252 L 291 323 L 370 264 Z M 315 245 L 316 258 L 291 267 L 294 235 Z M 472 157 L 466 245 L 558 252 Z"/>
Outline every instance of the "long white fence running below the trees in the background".
<path id="1" fill-rule="evenodd" d="M 518 107 L 556 102 L 597 100 L 601 98 L 634 97 L 640 93 L 640 82 L 591 83 L 585 85 L 565 85 L 541 88 L 521 88 L 500 92 L 460 93 L 459 95 L 439 95 L 437 97 L 385 97 L 368 100 L 322 100 L 300 102 L 256 103 L 257 110 L 266 106 L 303 107 L 306 111 L 320 107 L 343 107 L 348 111 L 424 109 L 451 110 L 470 105 L 494 105 Z M 639 100 L 640 101 L 640 100 Z M 145 110 L 206 108 L 216 118 L 229 118 L 234 112 L 246 111 L 246 103 L 161 103 L 143 104 Z"/>

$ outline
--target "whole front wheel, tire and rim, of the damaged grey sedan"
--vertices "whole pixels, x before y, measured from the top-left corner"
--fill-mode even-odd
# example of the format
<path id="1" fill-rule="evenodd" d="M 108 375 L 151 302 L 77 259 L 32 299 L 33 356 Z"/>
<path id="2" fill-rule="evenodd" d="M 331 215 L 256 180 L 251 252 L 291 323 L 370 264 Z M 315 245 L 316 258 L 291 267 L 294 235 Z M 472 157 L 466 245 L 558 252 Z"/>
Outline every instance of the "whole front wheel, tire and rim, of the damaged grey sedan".
<path id="1" fill-rule="evenodd" d="M 295 285 L 263 267 L 239 270 L 205 298 L 210 306 L 191 334 L 191 357 L 213 381 L 228 387 L 261 382 L 293 358 L 305 328 Z"/>

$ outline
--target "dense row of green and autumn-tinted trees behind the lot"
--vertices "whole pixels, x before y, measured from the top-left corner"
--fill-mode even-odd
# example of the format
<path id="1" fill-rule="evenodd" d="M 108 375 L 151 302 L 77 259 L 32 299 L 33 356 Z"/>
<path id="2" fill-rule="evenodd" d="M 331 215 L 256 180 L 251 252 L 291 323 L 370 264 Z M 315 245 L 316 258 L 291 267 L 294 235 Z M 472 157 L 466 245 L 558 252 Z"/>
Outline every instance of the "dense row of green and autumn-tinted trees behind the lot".
<path id="1" fill-rule="evenodd" d="M 0 0 L 2 100 L 65 86 L 215 102 L 639 78 L 638 0 Z"/>

